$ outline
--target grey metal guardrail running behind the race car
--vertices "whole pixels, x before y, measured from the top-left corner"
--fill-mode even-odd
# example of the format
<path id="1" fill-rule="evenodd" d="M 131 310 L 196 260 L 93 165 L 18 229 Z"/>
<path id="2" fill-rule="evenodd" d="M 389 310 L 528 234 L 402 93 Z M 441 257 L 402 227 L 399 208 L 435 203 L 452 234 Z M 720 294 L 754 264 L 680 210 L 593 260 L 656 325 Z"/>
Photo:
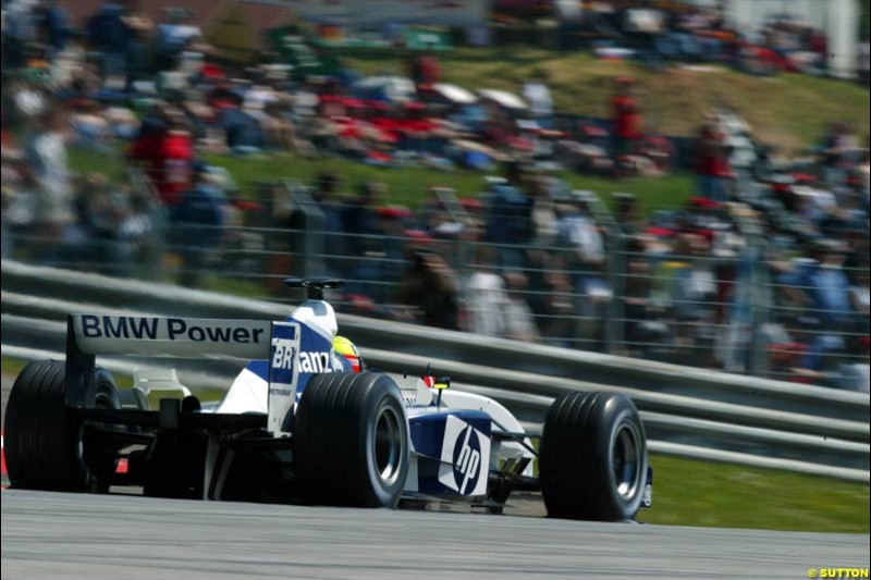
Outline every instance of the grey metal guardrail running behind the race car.
<path id="1" fill-rule="evenodd" d="M 2 262 L 4 355 L 63 353 L 71 311 L 277 319 L 287 306 Z M 869 481 L 867 395 L 359 317 L 340 314 L 340 325 L 373 367 L 401 373 L 432 363 L 456 387 L 500 400 L 522 421 L 540 423 L 564 392 L 619 391 L 641 410 L 651 451 Z M 107 367 L 142 366 L 123 358 Z M 226 386 L 238 369 L 173 365 L 192 386 Z"/>

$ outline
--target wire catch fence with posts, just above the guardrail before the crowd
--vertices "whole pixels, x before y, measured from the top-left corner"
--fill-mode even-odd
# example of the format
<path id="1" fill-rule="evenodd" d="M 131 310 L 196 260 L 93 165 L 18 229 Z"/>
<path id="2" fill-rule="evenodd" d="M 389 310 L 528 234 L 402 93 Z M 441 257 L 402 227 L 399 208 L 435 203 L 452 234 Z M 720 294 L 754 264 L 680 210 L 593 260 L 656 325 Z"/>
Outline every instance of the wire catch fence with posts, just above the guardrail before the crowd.
<path id="1" fill-rule="evenodd" d="M 329 274 L 347 282 L 334 303 L 363 317 L 868 388 L 867 268 L 789 262 L 799 248 L 766 236 L 746 206 L 660 208 L 641 220 L 629 198 L 608 205 L 569 192 L 537 202 L 535 232 L 516 244 L 503 238 L 525 227 L 512 214 L 517 208 L 488 207 L 486 196 L 473 203 L 436 188 L 412 211 L 335 196 L 316 201 L 311 190 L 262 184 L 248 199 L 259 209 L 223 227 L 172 225 L 154 211 L 140 239 L 90 237 L 64 251 L 39 232 L 14 237 L 19 255 L 61 268 L 283 304 L 293 299 L 282 285 L 290 273 Z M 361 231 L 338 226 L 348 221 Z M 493 223 L 505 231 L 488 231 Z M 814 301 L 827 292 L 817 286 L 823 279 L 843 304 Z"/>

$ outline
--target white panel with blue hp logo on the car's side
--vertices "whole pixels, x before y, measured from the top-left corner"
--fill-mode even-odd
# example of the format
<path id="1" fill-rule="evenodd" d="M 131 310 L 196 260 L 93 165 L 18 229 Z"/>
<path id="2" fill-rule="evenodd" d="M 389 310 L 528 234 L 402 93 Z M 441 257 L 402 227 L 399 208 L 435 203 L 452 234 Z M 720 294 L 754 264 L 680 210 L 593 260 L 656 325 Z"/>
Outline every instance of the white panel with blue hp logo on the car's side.
<path id="1" fill-rule="evenodd" d="M 449 416 L 442 442 L 439 481 L 462 495 L 487 493 L 490 437 L 466 421 Z"/>

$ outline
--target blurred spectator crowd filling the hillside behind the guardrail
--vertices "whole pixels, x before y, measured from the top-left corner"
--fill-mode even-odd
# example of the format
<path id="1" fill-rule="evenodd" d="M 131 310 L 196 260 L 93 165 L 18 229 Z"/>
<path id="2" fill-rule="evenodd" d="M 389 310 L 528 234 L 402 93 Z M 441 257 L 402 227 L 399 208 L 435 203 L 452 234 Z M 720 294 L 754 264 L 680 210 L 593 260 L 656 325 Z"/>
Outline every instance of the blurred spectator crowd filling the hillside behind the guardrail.
<path id="1" fill-rule="evenodd" d="M 305 246 L 253 226 L 317 223 L 319 268 L 348 280 L 338 301 L 349 312 L 868 391 L 868 137 L 850 123 L 783 159 L 732 111 L 711 111 L 690 156 L 697 197 L 649 210 L 552 171 L 671 171 L 674 147 L 645 135 L 629 78 L 611 122 L 566 121 L 541 71 L 523 98 L 445 85 L 429 54 L 409 59 L 407 78 L 306 78 L 269 59 L 232 65 L 180 10 L 152 22 L 107 2 L 78 34 L 52 0 L 3 10 L 3 258 L 160 277 L 169 254 L 197 285 L 258 251 L 282 256 L 252 272 L 290 274 Z M 813 72 L 825 52 L 819 32 L 783 20 L 753 45 L 703 10 L 636 28 L 657 59 L 753 73 Z M 119 149 L 124 175 L 74 164 L 76 151 Z M 285 208 L 246 200 L 203 160 L 271 151 L 500 175 L 479 196 L 434 187 L 400 207 L 383 184 L 326 172 Z M 299 194 L 316 222 L 299 221 Z"/>

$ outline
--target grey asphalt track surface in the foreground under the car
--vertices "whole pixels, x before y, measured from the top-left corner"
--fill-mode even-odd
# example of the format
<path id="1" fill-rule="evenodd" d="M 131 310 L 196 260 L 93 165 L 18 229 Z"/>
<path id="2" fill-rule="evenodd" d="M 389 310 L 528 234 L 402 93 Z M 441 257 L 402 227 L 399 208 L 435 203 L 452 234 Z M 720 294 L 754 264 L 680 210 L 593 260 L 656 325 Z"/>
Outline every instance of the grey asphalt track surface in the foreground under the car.
<path id="1" fill-rule="evenodd" d="M 2 578 L 800 579 L 869 536 L 4 490 Z"/>

